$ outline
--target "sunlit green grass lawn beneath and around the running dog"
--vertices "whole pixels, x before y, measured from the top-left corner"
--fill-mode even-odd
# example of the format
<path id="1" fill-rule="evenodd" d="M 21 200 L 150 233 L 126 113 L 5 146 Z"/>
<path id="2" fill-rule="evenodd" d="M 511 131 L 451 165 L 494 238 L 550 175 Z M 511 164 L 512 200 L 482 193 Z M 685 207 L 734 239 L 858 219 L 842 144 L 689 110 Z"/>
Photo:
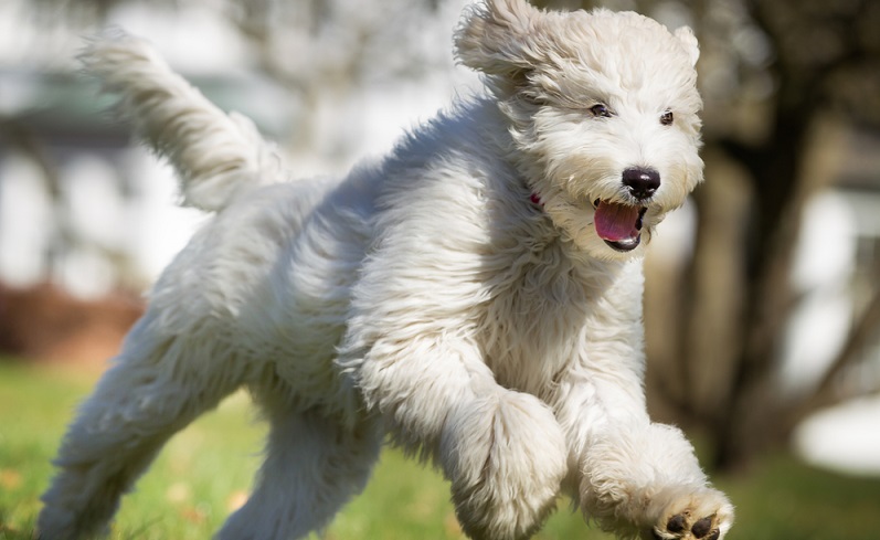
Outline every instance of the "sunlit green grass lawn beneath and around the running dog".
<path id="1" fill-rule="evenodd" d="M 0 540 L 30 539 L 39 496 L 72 412 L 94 373 L 0 362 Z M 263 427 L 236 394 L 178 434 L 124 499 L 113 539 L 208 539 L 247 497 Z M 730 540 L 877 540 L 880 479 L 839 476 L 768 457 L 749 476 L 720 478 L 738 507 Z M 316 537 L 317 538 L 317 537 Z M 367 491 L 324 538 L 462 539 L 448 488 L 433 470 L 389 449 Z M 601 540 L 563 501 L 538 539 Z"/>

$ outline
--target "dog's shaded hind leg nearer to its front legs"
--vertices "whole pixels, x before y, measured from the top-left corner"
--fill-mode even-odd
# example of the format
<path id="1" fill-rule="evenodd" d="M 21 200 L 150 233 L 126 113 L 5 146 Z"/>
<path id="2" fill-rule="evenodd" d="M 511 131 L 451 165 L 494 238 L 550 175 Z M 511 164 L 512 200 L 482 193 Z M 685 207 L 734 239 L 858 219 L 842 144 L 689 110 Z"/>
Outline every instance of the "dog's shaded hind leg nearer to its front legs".
<path id="1" fill-rule="evenodd" d="M 303 538 L 329 525 L 367 485 L 383 430 L 375 417 L 347 426 L 317 409 L 263 402 L 271 424 L 266 459 L 247 504 L 232 515 L 223 540 Z"/>

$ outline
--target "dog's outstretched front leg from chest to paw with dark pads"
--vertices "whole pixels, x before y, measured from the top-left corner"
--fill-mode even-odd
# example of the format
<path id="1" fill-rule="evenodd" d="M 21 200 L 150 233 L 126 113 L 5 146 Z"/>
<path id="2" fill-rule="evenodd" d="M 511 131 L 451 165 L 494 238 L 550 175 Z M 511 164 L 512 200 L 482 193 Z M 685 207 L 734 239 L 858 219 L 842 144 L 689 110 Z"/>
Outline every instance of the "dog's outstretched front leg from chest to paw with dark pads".
<path id="1" fill-rule="evenodd" d="M 681 431 L 648 416 L 642 268 L 622 269 L 549 400 L 569 444 L 566 491 L 587 518 L 625 538 L 719 540 L 732 506 L 709 486 Z"/>

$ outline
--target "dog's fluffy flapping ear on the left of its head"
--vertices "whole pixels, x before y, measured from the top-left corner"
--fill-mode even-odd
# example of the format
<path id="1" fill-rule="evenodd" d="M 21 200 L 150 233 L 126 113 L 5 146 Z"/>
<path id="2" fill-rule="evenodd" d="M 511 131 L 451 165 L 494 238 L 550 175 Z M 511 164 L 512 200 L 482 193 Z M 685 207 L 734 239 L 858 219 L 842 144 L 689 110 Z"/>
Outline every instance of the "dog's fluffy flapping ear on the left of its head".
<path id="1" fill-rule="evenodd" d="M 543 13 L 526 0 L 470 6 L 455 32 L 459 62 L 487 75 L 516 77 L 540 62 Z"/>

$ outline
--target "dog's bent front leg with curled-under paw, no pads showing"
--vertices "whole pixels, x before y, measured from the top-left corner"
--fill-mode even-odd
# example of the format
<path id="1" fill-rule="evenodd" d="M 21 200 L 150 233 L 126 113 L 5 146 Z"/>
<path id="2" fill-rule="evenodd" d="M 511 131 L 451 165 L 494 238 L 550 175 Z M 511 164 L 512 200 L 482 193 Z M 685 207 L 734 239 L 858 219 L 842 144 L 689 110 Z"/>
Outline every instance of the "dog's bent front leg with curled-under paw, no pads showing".
<path id="1" fill-rule="evenodd" d="M 565 474 L 562 431 L 540 400 L 498 385 L 467 338 L 380 340 L 358 379 L 395 441 L 442 467 L 470 538 L 528 538 L 553 510 Z"/>

